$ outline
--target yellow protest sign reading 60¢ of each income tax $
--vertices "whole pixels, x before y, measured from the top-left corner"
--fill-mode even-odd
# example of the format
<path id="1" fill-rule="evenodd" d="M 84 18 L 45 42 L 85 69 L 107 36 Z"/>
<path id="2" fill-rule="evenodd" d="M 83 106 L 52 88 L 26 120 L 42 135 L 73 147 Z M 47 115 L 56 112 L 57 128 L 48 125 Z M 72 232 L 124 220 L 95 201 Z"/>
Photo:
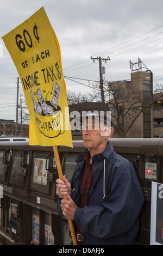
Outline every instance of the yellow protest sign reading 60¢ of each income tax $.
<path id="1" fill-rule="evenodd" d="M 30 114 L 30 145 L 72 147 L 60 47 L 44 8 L 3 36 Z"/>

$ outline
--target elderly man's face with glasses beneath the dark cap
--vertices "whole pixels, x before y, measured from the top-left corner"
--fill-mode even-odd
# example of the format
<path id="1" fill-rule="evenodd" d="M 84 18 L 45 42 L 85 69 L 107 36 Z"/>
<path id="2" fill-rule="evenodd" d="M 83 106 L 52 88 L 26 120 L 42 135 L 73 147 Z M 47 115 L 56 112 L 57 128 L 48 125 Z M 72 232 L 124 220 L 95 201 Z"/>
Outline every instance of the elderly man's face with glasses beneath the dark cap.
<path id="1" fill-rule="evenodd" d="M 109 134 L 107 134 L 109 136 L 102 136 L 104 130 L 101 130 L 103 128 L 99 127 L 99 123 L 94 119 L 92 119 L 92 121 L 86 120 L 83 126 L 85 128 L 83 130 L 83 142 L 87 149 L 99 149 L 102 144 L 106 144 L 108 142 L 108 139 L 112 135 L 112 132 L 109 132 Z"/>

